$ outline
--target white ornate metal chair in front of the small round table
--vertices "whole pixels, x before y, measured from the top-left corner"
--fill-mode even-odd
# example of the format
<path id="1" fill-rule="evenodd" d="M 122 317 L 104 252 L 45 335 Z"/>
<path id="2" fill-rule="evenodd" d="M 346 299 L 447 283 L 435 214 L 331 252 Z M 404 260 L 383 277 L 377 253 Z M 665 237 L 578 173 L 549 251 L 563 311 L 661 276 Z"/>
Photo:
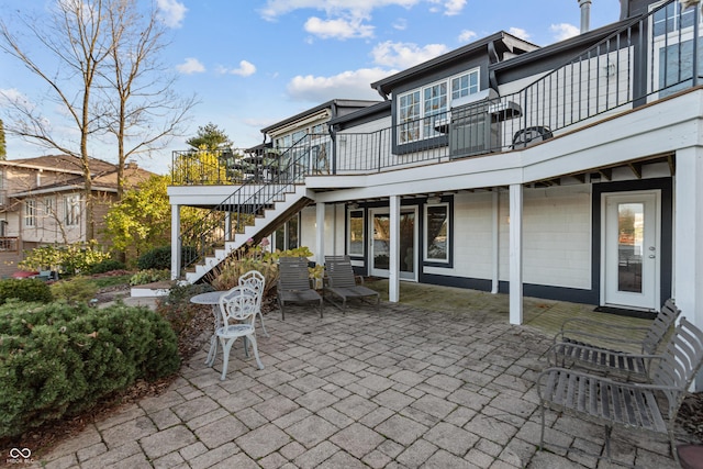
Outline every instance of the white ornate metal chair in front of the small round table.
<path id="1" fill-rule="evenodd" d="M 245 338 L 244 349 L 247 350 L 246 340 L 250 342 L 254 349 L 254 357 L 259 369 L 264 369 L 259 359 L 259 351 L 256 345 L 256 331 L 254 319 L 256 317 L 256 291 L 249 287 L 234 287 L 220 297 L 220 312 L 222 313 L 222 325 L 215 332 L 222 345 L 222 377 L 224 381 L 227 375 L 227 364 L 230 362 L 230 350 L 238 337 Z"/>

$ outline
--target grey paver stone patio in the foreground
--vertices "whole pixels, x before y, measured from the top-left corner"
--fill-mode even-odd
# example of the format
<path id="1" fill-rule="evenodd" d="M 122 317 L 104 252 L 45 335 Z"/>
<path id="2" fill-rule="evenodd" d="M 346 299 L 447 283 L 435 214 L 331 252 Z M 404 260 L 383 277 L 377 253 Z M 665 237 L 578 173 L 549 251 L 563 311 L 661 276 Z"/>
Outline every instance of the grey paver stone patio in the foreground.
<path id="1" fill-rule="evenodd" d="M 525 304 L 526 317 L 536 317 L 569 303 Z M 203 344 L 168 391 L 89 425 L 41 462 L 131 469 L 620 467 L 580 451 L 603 451 L 601 426 L 554 412 L 547 412 L 547 443 L 572 449 L 538 450 L 534 381 L 551 338 L 529 325 L 510 325 L 495 305 L 482 309 L 471 299 L 467 305 L 428 312 L 355 303 L 346 314 L 326 305 L 322 320 L 293 306 L 284 322 L 274 311 L 265 320 L 270 337 L 258 340 L 264 370 L 244 359 L 238 345 L 220 381 L 221 351 L 208 368 Z M 615 429 L 612 456 L 643 468 L 678 467 L 666 437 Z"/>

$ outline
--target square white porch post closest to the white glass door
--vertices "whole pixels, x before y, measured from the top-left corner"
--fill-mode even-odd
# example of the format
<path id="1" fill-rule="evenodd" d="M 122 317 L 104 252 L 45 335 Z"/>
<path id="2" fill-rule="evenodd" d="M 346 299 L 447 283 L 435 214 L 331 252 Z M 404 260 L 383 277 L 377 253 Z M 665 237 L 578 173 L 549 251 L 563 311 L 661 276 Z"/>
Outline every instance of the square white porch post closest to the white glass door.
<path id="1" fill-rule="evenodd" d="M 510 186 L 510 323 L 523 323 L 523 186 Z"/>

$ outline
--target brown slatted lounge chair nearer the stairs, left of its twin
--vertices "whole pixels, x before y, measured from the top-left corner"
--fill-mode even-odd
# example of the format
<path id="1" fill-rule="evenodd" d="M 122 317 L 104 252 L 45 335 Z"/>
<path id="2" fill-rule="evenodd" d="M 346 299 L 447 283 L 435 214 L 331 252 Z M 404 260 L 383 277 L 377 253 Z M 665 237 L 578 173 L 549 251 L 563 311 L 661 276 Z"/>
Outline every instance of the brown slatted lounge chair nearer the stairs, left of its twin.
<path id="1" fill-rule="evenodd" d="M 320 305 L 322 297 L 310 286 L 308 259 L 304 257 L 281 257 L 278 265 L 278 304 L 281 319 L 286 321 L 286 303 L 311 303 Z"/>

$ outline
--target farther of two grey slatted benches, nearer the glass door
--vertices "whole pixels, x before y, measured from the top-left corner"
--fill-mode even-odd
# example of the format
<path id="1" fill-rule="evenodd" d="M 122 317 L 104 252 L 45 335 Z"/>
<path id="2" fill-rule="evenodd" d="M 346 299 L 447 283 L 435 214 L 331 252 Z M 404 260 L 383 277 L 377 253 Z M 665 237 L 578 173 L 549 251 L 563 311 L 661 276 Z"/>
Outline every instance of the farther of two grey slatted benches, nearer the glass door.
<path id="1" fill-rule="evenodd" d="M 634 327 L 607 324 L 587 317 L 573 317 L 561 325 L 548 354 L 550 365 L 577 366 L 606 375 L 624 376 L 627 380 L 649 381 L 651 362 L 667 334 L 673 328 L 681 310 L 673 300 L 665 302 L 649 327 Z M 606 331 L 607 335 L 592 331 Z M 644 334 L 643 339 L 632 339 L 634 334 Z M 610 344 L 631 344 L 638 353 L 610 348 Z M 554 358 L 554 360 L 551 360 Z"/>

